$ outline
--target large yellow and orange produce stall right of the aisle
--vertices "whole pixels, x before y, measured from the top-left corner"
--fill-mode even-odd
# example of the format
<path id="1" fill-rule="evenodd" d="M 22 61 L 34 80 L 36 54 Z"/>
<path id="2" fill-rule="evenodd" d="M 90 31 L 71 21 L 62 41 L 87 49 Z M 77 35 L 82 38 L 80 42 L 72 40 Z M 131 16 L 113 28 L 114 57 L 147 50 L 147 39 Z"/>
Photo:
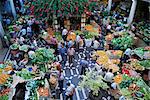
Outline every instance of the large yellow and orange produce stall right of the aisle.
<path id="1" fill-rule="evenodd" d="M 121 50 L 96 51 L 91 55 L 96 62 L 106 69 L 112 69 L 113 72 L 119 71 L 119 58 L 122 56 Z"/>

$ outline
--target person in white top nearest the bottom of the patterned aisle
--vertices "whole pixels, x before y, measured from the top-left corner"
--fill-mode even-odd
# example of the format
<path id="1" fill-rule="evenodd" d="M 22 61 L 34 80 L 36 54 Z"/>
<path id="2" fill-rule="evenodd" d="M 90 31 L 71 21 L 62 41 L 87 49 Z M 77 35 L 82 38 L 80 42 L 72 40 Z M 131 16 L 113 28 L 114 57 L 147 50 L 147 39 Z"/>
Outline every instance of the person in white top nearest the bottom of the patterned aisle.
<path id="1" fill-rule="evenodd" d="M 75 86 L 71 84 L 70 82 L 67 83 L 67 89 L 66 89 L 66 100 L 73 100 L 73 94 L 75 92 Z"/>

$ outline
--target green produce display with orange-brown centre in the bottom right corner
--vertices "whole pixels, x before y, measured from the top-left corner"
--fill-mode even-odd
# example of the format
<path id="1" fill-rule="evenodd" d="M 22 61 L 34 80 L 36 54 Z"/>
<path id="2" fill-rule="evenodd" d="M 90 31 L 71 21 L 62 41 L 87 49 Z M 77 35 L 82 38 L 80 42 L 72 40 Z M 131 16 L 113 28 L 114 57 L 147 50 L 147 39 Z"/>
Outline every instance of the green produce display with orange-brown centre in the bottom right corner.
<path id="1" fill-rule="evenodd" d="M 141 77 L 135 78 L 126 74 L 122 75 L 122 82 L 119 83 L 121 94 L 127 99 L 149 100 L 150 87 Z"/>

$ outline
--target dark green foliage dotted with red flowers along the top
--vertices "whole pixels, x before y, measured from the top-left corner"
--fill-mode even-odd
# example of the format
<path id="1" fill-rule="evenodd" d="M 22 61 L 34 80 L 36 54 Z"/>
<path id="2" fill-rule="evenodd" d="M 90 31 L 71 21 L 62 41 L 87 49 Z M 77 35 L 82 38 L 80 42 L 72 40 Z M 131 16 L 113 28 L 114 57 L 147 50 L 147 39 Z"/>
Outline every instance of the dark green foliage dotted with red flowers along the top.
<path id="1" fill-rule="evenodd" d="M 35 0 L 31 3 L 32 14 L 37 17 L 47 17 L 50 14 L 61 16 L 81 16 L 86 11 L 92 11 L 97 0 Z"/>

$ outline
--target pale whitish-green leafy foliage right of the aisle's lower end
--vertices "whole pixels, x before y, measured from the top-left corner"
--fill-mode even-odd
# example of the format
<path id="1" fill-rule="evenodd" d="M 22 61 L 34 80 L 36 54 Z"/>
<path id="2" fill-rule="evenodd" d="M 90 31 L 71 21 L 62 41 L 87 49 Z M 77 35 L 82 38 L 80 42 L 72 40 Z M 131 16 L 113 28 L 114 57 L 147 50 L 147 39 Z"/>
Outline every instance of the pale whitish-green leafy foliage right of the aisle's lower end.
<path id="1" fill-rule="evenodd" d="M 85 76 L 83 76 L 83 80 L 79 83 L 80 88 L 89 88 L 93 91 L 93 95 L 98 95 L 98 91 L 100 88 L 107 89 L 109 88 L 107 83 L 103 81 L 103 77 L 98 75 L 97 71 L 87 72 Z"/>

